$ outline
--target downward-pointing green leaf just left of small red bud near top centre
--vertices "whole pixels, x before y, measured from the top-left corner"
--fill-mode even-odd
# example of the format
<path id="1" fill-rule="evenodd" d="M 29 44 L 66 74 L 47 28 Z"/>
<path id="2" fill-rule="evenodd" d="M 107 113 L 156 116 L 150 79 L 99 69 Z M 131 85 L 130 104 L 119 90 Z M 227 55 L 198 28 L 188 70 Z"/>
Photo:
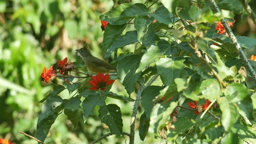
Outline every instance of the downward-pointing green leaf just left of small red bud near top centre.
<path id="1" fill-rule="evenodd" d="M 137 31 L 137 39 L 139 42 L 142 42 L 142 37 L 148 31 L 148 25 L 154 20 L 153 17 L 142 17 L 140 15 L 136 15 L 134 18 L 134 28 Z"/>

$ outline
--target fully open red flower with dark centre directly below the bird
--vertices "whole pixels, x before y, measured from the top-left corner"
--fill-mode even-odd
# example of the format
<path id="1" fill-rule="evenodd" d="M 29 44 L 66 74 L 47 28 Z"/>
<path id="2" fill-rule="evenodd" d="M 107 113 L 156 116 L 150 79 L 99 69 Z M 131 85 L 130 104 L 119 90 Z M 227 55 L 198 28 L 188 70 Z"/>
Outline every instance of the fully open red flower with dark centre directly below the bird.
<path id="1" fill-rule="evenodd" d="M 92 87 L 90 87 L 89 89 L 98 90 L 100 88 L 100 90 L 105 91 L 105 87 L 114 82 L 114 80 L 108 80 L 108 78 L 109 74 L 106 74 L 104 76 L 103 72 L 97 74 L 96 76 L 92 76 L 92 80 L 89 81 L 89 84 L 92 85 Z"/>

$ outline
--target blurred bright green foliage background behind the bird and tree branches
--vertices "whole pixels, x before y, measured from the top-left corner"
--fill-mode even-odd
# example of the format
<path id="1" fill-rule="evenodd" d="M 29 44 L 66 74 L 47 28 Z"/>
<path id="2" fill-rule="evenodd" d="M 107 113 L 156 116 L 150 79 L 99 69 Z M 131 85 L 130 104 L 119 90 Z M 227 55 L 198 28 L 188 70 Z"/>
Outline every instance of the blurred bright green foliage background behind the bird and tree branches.
<path id="1" fill-rule="evenodd" d="M 117 4 L 129 2 L 119 0 Z M 133 0 L 134 3 L 144 3 L 144 0 Z M 149 0 L 149 4 L 154 1 Z M 188 0 L 179 0 L 179 7 L 191 5 Z M 112 0 L 6 0 L 0 1 L 0 138 L 8 138 L 15 144 L 36 144 L 35 140 L 27 138 L 19 131 L 32 136 L 36 134 L 36 123 L 42 103 L 40 100 L 52 90 L 50 84 L 40 81 L 40 73 L 44 66 L 49 68 L 58 60 L 68 57 L 69 61 L 81 61 L 76 55 L 76 49 L 88 43 L 92 54 L 101 57 L 103 33 L 99 16 L 109 11 Z M 160 2 L 150 10 L 154 11 Z M 256 11 L 256 2 L 250 2 Z M 256 38 L 256 27 L 247 16 L 236 16 L 232 27 L 236 35 Z M 132 27 L 130 27 L 132 29 Z M 131 51 L 126 46 L 120 52 Z M 246 51 L 246 55 L 256 54 L 255 49 Z M 54 84 L 62 84 L 62 80 L 54 80 Z M 64 86 L 66 84 L 64 83 Z M 115 82 L 112 90 L 123 96 L 128 96 L 121 84 Z M 60 94 L 69 98 L 68 91 Z M 135 94 L 132 94 L 132 98 Z M 133 104 L 111 99 L 121 108 L 124 131 L 129 131 L 131 109 Z M 96 108 L 97 109 L 97 108 Z M 79 122 L 74 129 L 64 114 L 58 116 L 50 129 L 47 144 L 78 143 L 86 144 L 109 132 L 102 125 L 96 114 L 90 116 L 84 124 Z M 139 110 L 138 115 L 142 114 Z M 139 116 L 137 116 L 138 118 Z M 138 128 L 139 122 L 136 122 Z M 138 130 L 138 129 L 137 129 Z M 226 138 L 225 144 L 238 141 L 235 136 Z M 109 136 L 101 143 L 125 143 L 125 139 Z M 138 131 L 135 137 L 140 142 Z M 146 138 L 144 143 L 152 143 Z M 223 142 L 223 141 L 222 141 Z"/>

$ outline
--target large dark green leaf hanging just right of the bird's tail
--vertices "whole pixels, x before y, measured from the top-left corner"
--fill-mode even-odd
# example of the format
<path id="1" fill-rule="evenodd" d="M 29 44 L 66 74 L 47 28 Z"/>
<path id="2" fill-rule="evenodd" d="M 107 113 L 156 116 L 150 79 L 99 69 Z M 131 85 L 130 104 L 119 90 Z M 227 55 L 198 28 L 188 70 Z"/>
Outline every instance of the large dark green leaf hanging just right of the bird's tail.
<path id="1" fill-rule="evenodd" d="M 126 56 L 117 65 L 117 76 L 120 78 L 120 82 L 124 85 L 129 96 L 134 91 L 136 82 L 141 74 L 141 72 L 135 74 L 139 67 L 140 59 L 140 55 Z"/>

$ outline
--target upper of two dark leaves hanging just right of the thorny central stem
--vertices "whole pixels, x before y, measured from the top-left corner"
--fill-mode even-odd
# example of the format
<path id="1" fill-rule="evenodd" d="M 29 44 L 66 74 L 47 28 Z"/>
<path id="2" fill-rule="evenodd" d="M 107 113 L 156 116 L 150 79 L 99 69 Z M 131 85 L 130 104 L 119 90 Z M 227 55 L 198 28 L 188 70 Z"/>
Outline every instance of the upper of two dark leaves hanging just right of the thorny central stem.
<path id="1" fill-rule="evenodd" d="M 140 103 L 144 108 L 144 112 L 146 113 L 148 120 L 153 108 L 153 100 L 158 96 L 161 88 L 161 86 L 148 86 L 142 91 Z"/>

